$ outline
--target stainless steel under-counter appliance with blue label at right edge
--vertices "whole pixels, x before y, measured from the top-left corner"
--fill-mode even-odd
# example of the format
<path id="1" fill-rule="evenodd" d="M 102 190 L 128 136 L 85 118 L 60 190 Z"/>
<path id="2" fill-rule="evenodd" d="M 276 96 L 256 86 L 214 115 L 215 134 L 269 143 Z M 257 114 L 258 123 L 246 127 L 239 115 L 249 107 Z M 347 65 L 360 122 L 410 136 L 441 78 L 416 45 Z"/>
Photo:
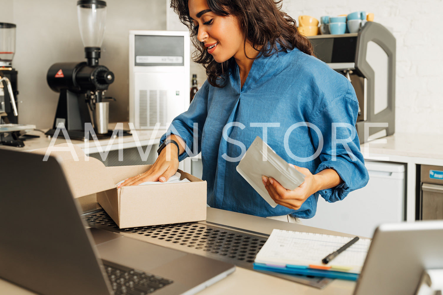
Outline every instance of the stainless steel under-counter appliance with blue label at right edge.
<path id="1" fill-rule="evenodd" d="M 443 167 L 420 166 L 418 219 L 443 219 Z"/>

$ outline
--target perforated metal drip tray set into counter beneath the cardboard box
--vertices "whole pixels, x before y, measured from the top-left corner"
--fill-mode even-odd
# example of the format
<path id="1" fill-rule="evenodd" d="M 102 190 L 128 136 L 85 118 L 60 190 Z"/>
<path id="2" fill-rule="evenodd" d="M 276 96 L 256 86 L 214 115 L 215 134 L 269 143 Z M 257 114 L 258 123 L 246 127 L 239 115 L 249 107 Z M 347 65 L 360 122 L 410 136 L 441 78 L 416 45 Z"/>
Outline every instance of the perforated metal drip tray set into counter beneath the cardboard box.
<path id="1" fill-rule="evenodd" d="M 269 237 L 263 233 L 235 229 L 208 221 L 120 229 L 104 210 L 85 213 L 82 217 L 90 227 L 119 232 L 155 245 L 207 256 L 249 269 L 253 269 L 255 256 Z M 317 288 L 323 288 L 332 281 L 326 278 L 264 273 Z"/>

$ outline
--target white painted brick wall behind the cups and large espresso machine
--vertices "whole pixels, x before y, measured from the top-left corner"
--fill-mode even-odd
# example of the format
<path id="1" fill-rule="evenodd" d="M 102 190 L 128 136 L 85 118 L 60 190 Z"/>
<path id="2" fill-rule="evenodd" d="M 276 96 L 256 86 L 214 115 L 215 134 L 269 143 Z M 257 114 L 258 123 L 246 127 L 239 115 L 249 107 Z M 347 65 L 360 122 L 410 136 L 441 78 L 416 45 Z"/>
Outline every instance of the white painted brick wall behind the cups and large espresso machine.
<path id="1" fill-rule="evenodd" d="M 443 135 L 442 0 L 283 0 L 283 9 L 297 21 L 374 13 L 397 41 L 396 132 Z"/>

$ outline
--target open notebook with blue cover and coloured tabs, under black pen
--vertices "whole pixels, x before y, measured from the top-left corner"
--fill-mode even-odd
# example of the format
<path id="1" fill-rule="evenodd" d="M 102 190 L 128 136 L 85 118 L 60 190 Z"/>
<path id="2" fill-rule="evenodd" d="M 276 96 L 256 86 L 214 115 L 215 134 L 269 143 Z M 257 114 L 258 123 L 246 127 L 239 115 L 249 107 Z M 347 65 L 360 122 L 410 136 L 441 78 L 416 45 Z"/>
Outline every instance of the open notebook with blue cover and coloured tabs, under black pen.
<path id="1" fill-rule="evenodd" d="M 359 239 L 330 263 L 322 263 L 323 258 L 350 240 L 352 237 L 274 229 L 257 253 L 254 268 L 355 280 L 365 262 L 370 239 Z"/>

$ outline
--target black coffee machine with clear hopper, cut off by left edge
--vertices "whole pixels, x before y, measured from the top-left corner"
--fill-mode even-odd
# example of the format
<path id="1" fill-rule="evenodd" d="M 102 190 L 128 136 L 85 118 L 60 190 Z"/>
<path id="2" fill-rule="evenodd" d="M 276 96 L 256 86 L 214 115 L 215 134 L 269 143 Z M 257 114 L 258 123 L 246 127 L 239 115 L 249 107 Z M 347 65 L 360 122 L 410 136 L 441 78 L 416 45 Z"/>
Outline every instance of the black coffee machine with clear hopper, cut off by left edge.
<path id="1" fill-rule="evenodd" d="M 18 123 L 17 71 L 12 67 L 16 50 L 16 25 L 0 23 L 0 144 L 23 147 L 20 132 L 35 125 Z"/>

